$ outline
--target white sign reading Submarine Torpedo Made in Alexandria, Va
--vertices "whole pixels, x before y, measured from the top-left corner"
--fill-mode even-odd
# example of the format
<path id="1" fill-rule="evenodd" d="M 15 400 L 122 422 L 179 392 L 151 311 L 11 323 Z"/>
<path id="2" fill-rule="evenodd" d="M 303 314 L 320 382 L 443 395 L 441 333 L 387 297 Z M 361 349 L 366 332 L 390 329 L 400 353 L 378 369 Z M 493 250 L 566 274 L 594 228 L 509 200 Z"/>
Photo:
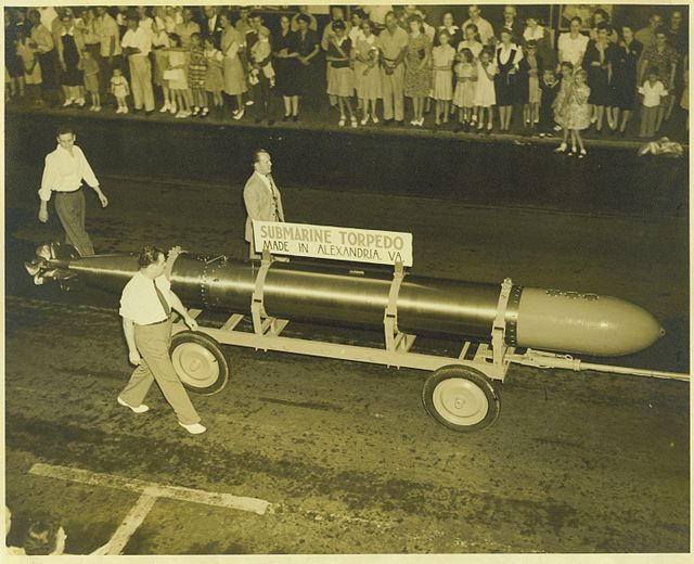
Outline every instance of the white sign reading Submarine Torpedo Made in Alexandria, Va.
<path id="1" fill-rule="evenodd" d="M 412 266 L 412 233 L 253 221 L 256 253 Z"/>

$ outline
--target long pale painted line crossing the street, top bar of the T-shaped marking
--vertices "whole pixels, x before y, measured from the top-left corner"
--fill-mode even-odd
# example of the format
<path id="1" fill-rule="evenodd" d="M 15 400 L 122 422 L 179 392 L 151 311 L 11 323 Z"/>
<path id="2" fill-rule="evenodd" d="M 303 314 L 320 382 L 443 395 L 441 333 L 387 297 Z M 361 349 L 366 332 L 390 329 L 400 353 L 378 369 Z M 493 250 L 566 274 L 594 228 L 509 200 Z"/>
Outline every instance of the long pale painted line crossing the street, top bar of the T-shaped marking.
<path id="1" fill-rule="evenodd" d="M 48 476 L 68 482 L 78 482 L 91 486 L 103 486 L 107 488 L 124 489 L 136 493 L 147 493 L 157 498 L 169 498 L 191 503 L 202 503 L 218 508 L 237 509 L 265 515 L 273 512 L 273 504 L 258 498 L 246 498 L 232 496 L 231 493 L 219 493 L 204 491 L 202 489 L 184 488 L 181 486 L 165 486 L 153 482 L 141 479 L 126 479 L 113 474 L 102 474 L 88 470 L 72 469 L 68 466 L 57 466 L 52 464 L 37 463 L 31 466 L 29 474 L 37 476 Z"/>

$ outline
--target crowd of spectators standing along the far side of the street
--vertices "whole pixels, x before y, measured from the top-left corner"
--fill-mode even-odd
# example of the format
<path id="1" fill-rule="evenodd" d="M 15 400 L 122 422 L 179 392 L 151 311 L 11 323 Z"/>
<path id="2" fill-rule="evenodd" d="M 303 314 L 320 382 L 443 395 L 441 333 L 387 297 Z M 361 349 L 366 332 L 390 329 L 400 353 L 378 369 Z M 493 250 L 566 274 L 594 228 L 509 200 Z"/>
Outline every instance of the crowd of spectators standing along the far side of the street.
<path id="1" fill-rule="evenodd" d="M 682 7 L 640 29 L 597 9 L 590 29 L 574 16 L 564 33 L 529 8 L 494 23 L 479 5 L 459 23 L 426 9 L 331 7 L 319 27 L 309 7 L 273 22 L 244 7 L 5 8 L 5 101 L 272 125 L 322 92 L 339 126 L 423 127 L 433 111 L 428 126 L 504 132 L 515 113 L 528 132 L 563 130 L 560 150 L 570 136 L 579 156 L 589 128 L 625 136 L 638 111 L 632 131 L 651 138 L 676 108 L 689 115 Z"/>

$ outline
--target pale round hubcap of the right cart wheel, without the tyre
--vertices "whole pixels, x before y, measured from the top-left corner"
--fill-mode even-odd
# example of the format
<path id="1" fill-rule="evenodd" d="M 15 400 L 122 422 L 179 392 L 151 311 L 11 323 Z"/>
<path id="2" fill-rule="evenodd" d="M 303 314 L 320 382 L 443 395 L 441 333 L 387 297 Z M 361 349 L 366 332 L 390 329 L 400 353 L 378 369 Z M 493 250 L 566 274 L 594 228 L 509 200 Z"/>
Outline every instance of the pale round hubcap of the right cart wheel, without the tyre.
<path id="1" fill-rule="evenodd" d="M 475 425 L 489 411 L 487 396 L 479 386 L 464 379 L 445 380 L 434 388 L 434 407 L 446 421 Z"/>

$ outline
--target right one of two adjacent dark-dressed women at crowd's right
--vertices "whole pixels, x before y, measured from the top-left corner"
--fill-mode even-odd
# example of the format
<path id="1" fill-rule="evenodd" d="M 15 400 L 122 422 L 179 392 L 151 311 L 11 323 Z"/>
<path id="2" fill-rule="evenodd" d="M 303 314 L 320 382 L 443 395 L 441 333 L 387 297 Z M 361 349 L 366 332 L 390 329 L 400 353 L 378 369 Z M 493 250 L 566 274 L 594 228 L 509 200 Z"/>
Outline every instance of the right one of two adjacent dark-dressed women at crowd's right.
<path id="1" fill-rule="evenodd" d="M 627 123 L 637 105 L 637 73 L 643 43 L 633 37 L 631 26 L 621 26 L 621 38 L 615 48 L 612 63 L 612 82 L 609 84 L 609 107 L 607 123 L 613 130 L 619 129 L 625 136 Z M 619 121 L 621 111 L 621 123 Z"/>

